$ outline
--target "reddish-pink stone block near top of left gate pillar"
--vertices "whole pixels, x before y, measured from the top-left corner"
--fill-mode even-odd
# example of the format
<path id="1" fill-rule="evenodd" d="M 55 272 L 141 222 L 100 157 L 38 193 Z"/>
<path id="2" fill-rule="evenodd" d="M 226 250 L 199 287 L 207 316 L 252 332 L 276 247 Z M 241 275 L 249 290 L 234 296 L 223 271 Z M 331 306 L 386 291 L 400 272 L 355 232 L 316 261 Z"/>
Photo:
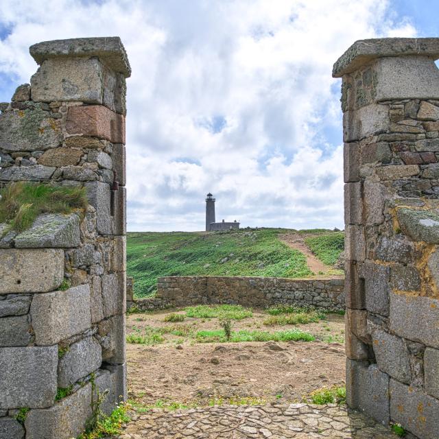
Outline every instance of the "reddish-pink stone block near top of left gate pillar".
<path id="1" fill-rule="evenodd" d="M 100 105 L 69 107 L 66 129 L 69 134 L 99 137 L 125 144 L 125 117 Z"/>

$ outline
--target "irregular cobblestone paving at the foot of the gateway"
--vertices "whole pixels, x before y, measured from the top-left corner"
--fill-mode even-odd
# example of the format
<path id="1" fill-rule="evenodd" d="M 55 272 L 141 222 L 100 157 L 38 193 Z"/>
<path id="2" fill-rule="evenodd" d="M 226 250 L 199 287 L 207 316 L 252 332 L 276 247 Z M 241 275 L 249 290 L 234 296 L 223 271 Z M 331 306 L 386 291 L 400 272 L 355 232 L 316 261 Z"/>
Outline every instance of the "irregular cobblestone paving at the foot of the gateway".
<path id="1" fill-rule="evenodd" d="M 119 439 L 396 439 L 389 429 L 344 406 L 218 406 L 137 414 Z"/>

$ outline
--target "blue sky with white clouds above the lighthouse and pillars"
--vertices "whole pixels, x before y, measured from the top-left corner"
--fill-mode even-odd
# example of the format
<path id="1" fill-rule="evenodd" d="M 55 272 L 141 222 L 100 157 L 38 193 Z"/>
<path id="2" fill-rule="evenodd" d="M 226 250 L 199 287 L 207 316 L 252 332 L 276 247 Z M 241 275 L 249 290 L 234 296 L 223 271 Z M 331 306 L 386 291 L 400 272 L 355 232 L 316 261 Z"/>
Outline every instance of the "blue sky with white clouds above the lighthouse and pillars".
<path id="1" fill-rule="evenodd" d="M 435 0 L 0 0 L 0 102 L 44 40 L 119 35 L 128 230 L 343 227 L 340 80 L 355 40 L 437 36 Z"/>

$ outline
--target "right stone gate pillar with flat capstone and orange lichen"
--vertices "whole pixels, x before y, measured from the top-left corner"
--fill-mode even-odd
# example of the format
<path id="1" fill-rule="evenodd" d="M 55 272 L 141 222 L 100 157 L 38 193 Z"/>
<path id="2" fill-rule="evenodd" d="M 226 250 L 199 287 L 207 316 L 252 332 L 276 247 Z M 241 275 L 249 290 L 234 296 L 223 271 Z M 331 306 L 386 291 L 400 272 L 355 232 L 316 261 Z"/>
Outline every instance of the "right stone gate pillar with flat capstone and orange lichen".
<path id="1" fill-rule="evenodd" d="M 439 418 L 439 38 L 360 40 L 342 81 L 348 405 Z"/>

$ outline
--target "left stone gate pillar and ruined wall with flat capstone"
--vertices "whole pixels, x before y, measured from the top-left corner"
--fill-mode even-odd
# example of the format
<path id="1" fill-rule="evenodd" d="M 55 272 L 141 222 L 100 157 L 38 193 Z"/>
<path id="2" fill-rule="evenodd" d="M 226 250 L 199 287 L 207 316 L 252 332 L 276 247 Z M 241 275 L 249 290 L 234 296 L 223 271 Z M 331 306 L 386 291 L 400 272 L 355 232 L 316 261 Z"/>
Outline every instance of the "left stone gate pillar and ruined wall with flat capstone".
<path id="1" fill-rule="evenodd" d="M 69 439 L 91 416 L 91 374 L 109 392 L 104 412 L 126 399 L 130 67 L 117 37 L 39 43 L 30 52 L 40 64 L 30 86 L 0 104 L 0 184 L 84 186 L 90 206 L 0 233 L 0 438 Z M 71 394 L 57 401 L 59 388 Z"/>

